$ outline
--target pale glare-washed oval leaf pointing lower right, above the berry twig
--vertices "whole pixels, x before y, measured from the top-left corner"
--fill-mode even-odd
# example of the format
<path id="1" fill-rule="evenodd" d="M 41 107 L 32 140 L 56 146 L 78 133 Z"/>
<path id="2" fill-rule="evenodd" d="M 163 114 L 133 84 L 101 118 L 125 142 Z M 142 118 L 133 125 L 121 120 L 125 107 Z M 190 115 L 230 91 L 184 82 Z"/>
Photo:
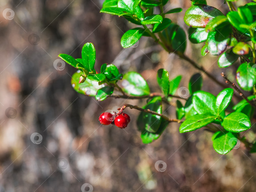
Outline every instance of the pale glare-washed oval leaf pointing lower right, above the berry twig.
<path id="1" fill-rule="evenodd" d="M 148 83 L 139 73 L 133 71 L 125 73 L 122 80 L 122 89 L 125 93 L 134 96 L 149 95 L 150 93 Z"/>

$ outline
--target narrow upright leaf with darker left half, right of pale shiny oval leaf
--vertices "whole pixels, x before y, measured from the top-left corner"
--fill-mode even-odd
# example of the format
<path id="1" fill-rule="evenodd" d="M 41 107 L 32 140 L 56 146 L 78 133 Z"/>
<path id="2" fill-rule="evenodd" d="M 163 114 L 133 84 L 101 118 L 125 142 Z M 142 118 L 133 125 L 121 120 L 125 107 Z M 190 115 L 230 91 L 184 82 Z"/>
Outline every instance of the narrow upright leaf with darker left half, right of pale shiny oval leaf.
<path id="1" fill-rule="evenodd" d="M 165 97 L 168 97 L 170 90 L 169 73 L 165 69 L 159 69 L 156 76 L 157 83 L 163 91 Z"/>

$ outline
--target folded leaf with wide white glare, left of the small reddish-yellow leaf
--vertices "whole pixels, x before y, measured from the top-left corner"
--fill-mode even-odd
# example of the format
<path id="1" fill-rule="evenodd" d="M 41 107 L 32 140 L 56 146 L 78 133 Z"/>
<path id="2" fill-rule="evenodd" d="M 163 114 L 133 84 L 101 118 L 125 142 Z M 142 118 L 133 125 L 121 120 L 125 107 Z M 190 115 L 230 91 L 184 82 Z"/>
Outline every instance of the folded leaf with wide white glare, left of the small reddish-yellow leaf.
<path id="1" fill-rule="evenodd" d="M 225 50 L 226 47 L 228 46 L 230 42 L 230 37 L 221 37 L 221 39 L 218 39 L 217 36 L 218 34 L 222 34 L 219 31 L 210 31 L 208 33 L 206 45 L 207 49 L 209 50 L 210 54 L 212 55 L 220 55 L 222 54 Z"/>

